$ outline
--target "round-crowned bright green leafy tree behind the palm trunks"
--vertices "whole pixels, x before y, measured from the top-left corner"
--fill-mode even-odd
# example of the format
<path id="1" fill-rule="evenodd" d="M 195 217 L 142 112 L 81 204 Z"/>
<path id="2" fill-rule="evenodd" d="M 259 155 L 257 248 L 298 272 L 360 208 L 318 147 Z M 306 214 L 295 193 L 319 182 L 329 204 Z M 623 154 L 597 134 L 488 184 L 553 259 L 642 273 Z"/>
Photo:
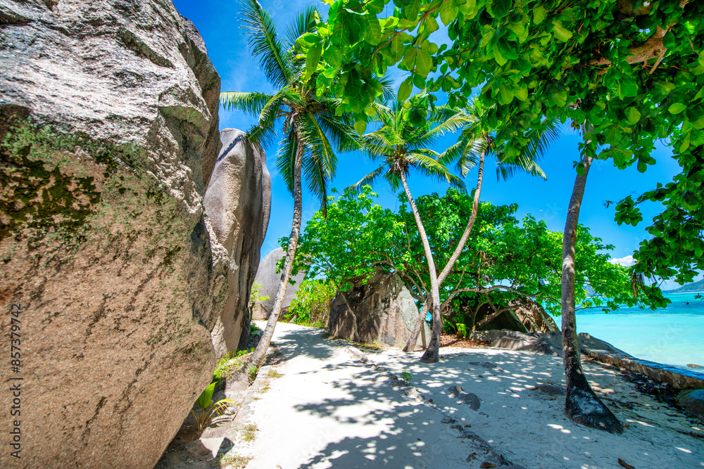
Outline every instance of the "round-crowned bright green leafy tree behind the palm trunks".
<path id="1" fill-rule="evenodd" d="M 374 198 L 369 186 L 358 196 L 346 191 L 331 198 L 327 219 L 318 212 L 301 235 L 294 269 L 306 266 L 309 276 L 326 276 L 346 288 L 349 278 L 369 278 L 381 267 L 398 272 L 416 300 L 423 302 L 429 296 L 429 275 L 413 214 L 402 197 L 398 213 L 375 205 Z M 416 204 L 434 256 L 444 265 L 465 228 L 472 198 L 450 189 L 443 196 L 422 195 Z M 477 293 L 497 304 L 510 297 L 529 297 L 551 314 L 560 314 L 562 233 L 530 216 L 519 222 L 513 217 L 516 210 L 516 205 L 481 204 L 467 245 L 441 286 L 444 313 L 450 313 L 455 295 Z M 634 295 L 631 271 L 608 262 L 604 252 L 612 248 L 580 226 L 578 307 L 610 311 L 620 304 L 664 306 L 667 300 L 657 287 L 639 285 L 641 294 Z"/>

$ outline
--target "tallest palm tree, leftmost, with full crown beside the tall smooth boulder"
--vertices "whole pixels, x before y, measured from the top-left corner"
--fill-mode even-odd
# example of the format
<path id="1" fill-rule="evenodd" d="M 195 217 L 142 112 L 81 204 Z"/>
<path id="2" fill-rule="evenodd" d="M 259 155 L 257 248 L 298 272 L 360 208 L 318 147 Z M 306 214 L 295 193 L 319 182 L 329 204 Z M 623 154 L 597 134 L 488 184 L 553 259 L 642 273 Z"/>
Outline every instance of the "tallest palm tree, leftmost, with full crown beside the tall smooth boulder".
<path id="1" fill-rule="evenodd" d="M 325 94 L 316 96 L 316 75 L 306 79 L 303 74 L 305 59 L 298 54 L 296 38 L 315 27 L 318 14 L 315 8 L 308 7 L 296 17 L 287 37 L 277 34 L 270 15 L 258 1 L 246 0 L 241 14 L 244 29 L 249 34 L 251 53 L 278 91 L 273 94 L 225 92 L 220 94 L 220 101 L 227 109 L 244 110 L 258 116 L 258 124 L 247 132 L 249 141 L 257 146 L 274 143 L 275 129 L 281 124 L 283 138 L 277 152 L 277 168 L 294 196 L 291 236 L 274 307 L 253 356 L 241 368 L 239 378 L 244 380 L 244 371 L 260 368 L 281 314 L 301 230 L 301 172 L 306 176 L 308 189 L 320 198 L 325 210 L 327 184 L 337 167 L 333 147 L 355 146 L 356 132 L 346 115 L 335 115 L 340 101 Z"/>

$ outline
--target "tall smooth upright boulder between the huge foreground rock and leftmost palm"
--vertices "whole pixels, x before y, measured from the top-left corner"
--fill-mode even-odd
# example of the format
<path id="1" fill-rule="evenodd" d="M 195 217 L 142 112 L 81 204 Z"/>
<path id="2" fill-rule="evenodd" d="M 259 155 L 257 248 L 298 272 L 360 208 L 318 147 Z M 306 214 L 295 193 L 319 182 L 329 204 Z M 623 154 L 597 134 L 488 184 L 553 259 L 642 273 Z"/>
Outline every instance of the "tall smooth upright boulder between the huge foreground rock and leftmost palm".
<path id="1" fill-rule="evenodd" d="M 222 150 L 203 198 L 215 236 L 213 262 L 228 271 L 227 297 L 211 334 L 220 358 L 249 342 L 249 292 L 259 266 L 271 203 L 266 154 L 237 129 L 220 131 Z"/>

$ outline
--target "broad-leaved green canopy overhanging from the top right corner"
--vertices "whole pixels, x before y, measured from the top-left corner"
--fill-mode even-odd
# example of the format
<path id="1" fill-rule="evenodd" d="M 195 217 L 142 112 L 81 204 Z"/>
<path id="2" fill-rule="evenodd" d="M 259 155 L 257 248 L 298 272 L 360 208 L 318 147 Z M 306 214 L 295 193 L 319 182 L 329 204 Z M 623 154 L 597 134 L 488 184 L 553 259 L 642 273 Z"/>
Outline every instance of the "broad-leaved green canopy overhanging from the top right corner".
<path id="1" fill-rule="evenodd" d="M 478 90 L 508 158 L 546 117 L 593 125 L 582 155 L 641 172 L 655 162 L 655 142 L 670 139 L 681 173 L 635 203 L 624 200 L 617 220 L 635 224 L 637 203 L 663 203 L 636 271 L 683 282 L 704 267 L 704 4 L 396 0 L 392 10 L 388 3 L 330 0 L 327 23 L 298 39 L 308 73 L 318 72 L 318 92 L 341 99 L 339 113 L 362 119 L 381 93 L 375 77 L 398 66 L 409 72 L 399 101 L 414 85 L 448 92 L 451 105 Z M 389 17 L 379 18 L 384 11 Z M 432 42 L 439 21 L 450 47 Z"/>

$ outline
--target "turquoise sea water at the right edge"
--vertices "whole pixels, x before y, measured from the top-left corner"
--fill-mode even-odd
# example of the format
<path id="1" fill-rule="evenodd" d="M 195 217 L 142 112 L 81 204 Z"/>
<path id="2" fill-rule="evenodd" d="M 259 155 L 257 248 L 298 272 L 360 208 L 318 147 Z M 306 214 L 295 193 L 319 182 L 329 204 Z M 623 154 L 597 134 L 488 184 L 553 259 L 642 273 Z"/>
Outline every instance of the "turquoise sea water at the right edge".
<path id="1" fill-rule="evenodd" d="M 704 293 L 667 293 L 672 303 L 651 311 L 623 307 L 605 314 L 577 311 L 577 332 L 589 333 L 640 359 L 679 366 L 704 366 Z M 559 325 L 560 318 L 556 318 Z"/>

